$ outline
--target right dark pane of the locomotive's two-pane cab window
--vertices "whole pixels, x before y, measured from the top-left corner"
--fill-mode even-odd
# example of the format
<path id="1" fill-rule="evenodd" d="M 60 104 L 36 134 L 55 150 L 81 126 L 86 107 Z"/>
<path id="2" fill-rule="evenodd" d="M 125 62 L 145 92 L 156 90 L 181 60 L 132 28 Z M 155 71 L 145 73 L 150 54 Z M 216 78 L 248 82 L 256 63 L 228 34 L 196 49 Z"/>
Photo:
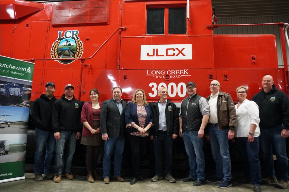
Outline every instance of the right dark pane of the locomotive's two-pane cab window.
<path id="1" fill-rule="evenodd" d="M 169 8 L 169 34 L 186 34 L 186 8 Z"/>

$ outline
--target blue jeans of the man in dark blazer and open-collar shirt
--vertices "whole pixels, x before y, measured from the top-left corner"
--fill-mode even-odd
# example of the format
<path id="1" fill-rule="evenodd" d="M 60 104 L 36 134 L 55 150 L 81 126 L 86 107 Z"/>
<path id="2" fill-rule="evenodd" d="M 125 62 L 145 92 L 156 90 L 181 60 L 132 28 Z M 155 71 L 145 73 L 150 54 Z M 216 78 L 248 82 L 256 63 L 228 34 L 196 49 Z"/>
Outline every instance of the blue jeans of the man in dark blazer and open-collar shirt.
<path id="1" fill-rule="evenodd" d="M 110 158 L 114 151 L 114 177 L 121 176 L 123 163 L 124 137 L 110 137 L 104 141 L 104 157 L 102 163 L 103 178 L 110 177 Z"/>

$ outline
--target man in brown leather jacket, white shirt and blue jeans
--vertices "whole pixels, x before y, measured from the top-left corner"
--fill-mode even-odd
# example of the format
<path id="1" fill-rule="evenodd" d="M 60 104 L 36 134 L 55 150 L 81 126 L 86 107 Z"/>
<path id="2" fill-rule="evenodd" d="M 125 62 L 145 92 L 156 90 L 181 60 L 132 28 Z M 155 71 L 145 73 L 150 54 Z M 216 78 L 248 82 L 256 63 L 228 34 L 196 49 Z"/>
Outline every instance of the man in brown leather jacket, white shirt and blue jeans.
<path id="1" fill-rule="evenodd" d="M 213 158 L 216 163 L 216 175 L 208 182 L 220 183 L 219 188 L 227 188 L 231 184 L 231 159 L 228 140 L 234 138 L 236 127 L 236 110 L 230 94 L 220 91 L 220 82 L 213 80 L 210 84 L 211 95 L 207 97 L 210 104 L 208 123 L 209 137 Z"/>

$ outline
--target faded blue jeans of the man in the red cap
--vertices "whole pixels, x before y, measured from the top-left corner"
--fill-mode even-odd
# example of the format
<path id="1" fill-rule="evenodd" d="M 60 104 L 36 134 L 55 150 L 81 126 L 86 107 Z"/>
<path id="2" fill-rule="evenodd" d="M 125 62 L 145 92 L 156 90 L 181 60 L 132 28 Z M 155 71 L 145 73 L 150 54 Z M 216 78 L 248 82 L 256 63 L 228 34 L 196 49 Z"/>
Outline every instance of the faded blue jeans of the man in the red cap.
<path id="1" fill-rule="evenodd" d="M 55 175 L 71 173 L 72 158 L 76 147 L 76 131 L 59 131 L 60 139 L 55 144 Z"/>

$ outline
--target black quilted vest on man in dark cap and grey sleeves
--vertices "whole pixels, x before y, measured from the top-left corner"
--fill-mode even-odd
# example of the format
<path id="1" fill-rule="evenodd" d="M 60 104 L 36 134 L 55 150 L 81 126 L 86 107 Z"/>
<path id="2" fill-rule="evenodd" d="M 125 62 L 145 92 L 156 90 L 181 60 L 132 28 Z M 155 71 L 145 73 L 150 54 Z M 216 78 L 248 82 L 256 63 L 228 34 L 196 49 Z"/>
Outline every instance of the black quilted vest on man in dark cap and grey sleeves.
<path id="1" fill-rule="evenodd" d="M 199 101 L 201 96 L 195 94 L 188 102 L 188 97 L 183 99 L 181 105 L 182 130 L 199 131 L 203 115 L 200 112 Z"/>

